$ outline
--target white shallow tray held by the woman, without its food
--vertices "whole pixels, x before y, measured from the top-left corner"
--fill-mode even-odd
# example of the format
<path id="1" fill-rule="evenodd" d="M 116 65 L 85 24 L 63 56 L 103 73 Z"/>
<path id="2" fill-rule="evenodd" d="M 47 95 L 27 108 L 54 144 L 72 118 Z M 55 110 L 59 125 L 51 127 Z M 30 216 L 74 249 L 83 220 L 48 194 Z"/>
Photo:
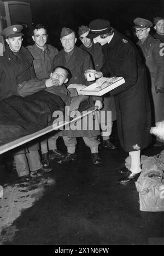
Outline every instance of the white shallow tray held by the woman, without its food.
<path id="1" fill-rule="evenodd" d="M 116 82 L 110 84 L 109 86 L 101 90 L 95 90 L 95 88 L 97 87 L 97 84 L 92 83 L 91 86 L 87 86 L 86 88 L 80 90 L 80 94 L 102 96 L 103 94 L 110 92 L 110 90 L 113 90 L 114 88 L 121 86 L 121 84 L 125 83 L 125 79 L 123 77 L 117 77 L 117 78 L 118 79 L 116 79 Z"/>

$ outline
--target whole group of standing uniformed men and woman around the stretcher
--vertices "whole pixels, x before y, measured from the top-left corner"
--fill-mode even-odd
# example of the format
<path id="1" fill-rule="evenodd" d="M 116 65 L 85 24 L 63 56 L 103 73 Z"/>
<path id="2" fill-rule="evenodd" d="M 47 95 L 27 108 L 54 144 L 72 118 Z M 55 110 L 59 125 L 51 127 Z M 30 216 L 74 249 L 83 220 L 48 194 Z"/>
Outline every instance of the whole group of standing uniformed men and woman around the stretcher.
<path id="1" fill-rule="evenodd" d="M 112 111 L 110 120 L 105 118 L 100 123 L 99 130 L 64 130 L 47 139 L 41 140 L 40 145 L 34 143 L 26 145 L 14 153 L 14 161 L 19 177 L 39 177 L 52 170 L 49 160 L 57 158 L 59 164 L 66 164 L 77 158 L 75 147 L 77 137 L 83 137 L 86 146 L 90 147 L 93 164 L 102 162 L 98 153 L 101 143 L 108 150 L 116 149 L 110 141 L 113 121 L 117 120 L 118 135 L 123 149 L 131 156 L 131 168 L 125 166 L 120 173 L 125 174 L 118 180 L 120 184 L 131 183 L 141 172 L 140 150 L 151 143 L 150 127 L 154 122 L 164 120 L 164 18 L 154 19 L 156 34 L 149 34 L 153 23 L 149 20 L 134 19 L 134 30 L 139 41 L 141 52 L 125 36 L 121 35 L 105 19 L 96 19 L 89 26 L 79 26 L 78 36 L 81 41 L 77 47 L 75 32 L 63 27 L 60 40 L 63 49 L 58 50 L 47 43 L 48 33 L 44 25 L 33 27 L 33 45 L 22 46 L 24 36 L 21 25 L 12 25 L 3 30 L 7 47 L 0 57 L 0 99 L 11 95 L 21 95 L 24 87 L 24 96 L 30 92 L 36 93 L 57 86 L 61 73 L 52 78 L 56 67 L 69 70 L 71 76 L 67 79 L 66 87 L 70 84 L 85 84 L 87 70 L 93 70 L 96 78 L 123 77 L 125 83 L 103 96 L 92 96 L 92 105 L 99 111 Z M 157 38 L 157 39 L 156 39 Z M 151 91 L 151 94 L 150 94 Z M 22 96 L 22 95 L 21 95 Z M 78 110 L 80 103 L 89 96 L 74 95 L 70 107 Z M 153 107 L 152 107 L 153 106 Z M 153 110 L 153 111 L 152 111 Z M 153 119 L 152 119 L 153 117 Z M 67 147 L 64 154 L 57 150 L 57 138 L 62 136 Z M 155 146 L 163 145 L 163 141 L 156 138 Z M 42 157 L 39 155 L 39 146 Z"/>

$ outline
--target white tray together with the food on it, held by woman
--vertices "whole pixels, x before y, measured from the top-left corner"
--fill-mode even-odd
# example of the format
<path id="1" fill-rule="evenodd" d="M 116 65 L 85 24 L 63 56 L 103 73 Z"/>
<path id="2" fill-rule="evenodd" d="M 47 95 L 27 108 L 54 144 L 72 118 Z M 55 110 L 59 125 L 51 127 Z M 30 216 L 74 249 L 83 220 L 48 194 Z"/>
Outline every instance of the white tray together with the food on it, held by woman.
<path id="1" fill-rule="evenodd" d="M 95 83 L 81 89 L 80 94 L 102 96 L 123 83 L 125 83 L 123 77 L 101 77 Z"/>

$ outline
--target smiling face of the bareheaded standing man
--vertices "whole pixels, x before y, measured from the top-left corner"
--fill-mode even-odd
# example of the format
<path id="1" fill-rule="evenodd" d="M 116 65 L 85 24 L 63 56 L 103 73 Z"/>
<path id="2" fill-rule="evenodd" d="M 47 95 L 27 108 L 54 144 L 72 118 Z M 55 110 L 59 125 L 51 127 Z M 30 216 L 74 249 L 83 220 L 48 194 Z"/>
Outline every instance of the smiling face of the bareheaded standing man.
<path id="1" fill-rule="evenodd" d="M 43 48 L 46 44 L 48 35 L 45 29 L 39 29 L 33 31 L 32 39 L 39 48 Z"/>

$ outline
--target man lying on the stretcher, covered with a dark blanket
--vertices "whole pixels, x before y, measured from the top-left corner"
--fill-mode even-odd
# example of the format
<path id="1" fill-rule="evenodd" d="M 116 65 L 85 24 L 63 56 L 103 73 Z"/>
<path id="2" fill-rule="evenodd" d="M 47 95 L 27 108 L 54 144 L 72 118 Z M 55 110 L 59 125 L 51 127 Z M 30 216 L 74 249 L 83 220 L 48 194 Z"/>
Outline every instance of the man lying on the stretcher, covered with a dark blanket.
<path id="1" fill-rule="evenodd" d="M 58 66 L 51 73 L 55 86 L 40 87 L 31 79 L 17 86 L 19 96 L 1 100 L 0 145 L 44 129 L 52 124 L 52 114 L 56 110 L 64 112 L 65 106 L 77 110 L 86 96 L 77 97 L 74 88 L 67 89 L 65 83 L 70 77 L 69 70 Z"/>

